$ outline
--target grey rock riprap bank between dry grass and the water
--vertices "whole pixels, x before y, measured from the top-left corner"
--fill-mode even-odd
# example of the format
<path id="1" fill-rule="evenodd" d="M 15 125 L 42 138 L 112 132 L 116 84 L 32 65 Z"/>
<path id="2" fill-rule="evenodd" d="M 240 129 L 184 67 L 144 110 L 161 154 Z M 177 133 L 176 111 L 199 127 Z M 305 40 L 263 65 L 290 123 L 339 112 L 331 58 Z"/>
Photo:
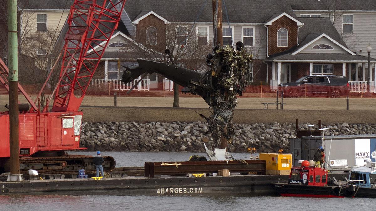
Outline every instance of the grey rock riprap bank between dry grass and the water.
<path id="1" fill-rule="evenodd" d="M 310 123 L 301 124 L 308 129 Z M 323 125 L 325 135 L 376 134 L 376 124 L 337 123 Z M 317 127 L 316 127 L 317 128 Z M 254 147 L 259 152 L 290 151 L 290 138 L 295 138 L 295 124 L 236 124 L 230 152 L 245 152 Z M 80 145 L 89 150 L 204 152 L 214 142 L 206 122 L 83 122 Z"/>

